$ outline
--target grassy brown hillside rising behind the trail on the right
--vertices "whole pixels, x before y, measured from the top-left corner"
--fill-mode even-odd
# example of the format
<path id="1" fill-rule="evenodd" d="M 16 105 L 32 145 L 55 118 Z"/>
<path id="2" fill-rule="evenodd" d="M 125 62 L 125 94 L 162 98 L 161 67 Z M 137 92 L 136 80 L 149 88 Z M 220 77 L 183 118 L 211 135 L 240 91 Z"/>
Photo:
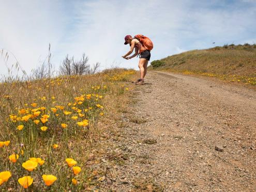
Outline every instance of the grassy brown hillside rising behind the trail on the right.
<path id="1" fill-rule="evenodd" d="M 256 83 L 256 44 L 231 44 L 207 50 L 188 51 L 152 61 L 152 68 L 208 74 L 221 78 L 234 76 L 237 81 L 254 84 Z"/>

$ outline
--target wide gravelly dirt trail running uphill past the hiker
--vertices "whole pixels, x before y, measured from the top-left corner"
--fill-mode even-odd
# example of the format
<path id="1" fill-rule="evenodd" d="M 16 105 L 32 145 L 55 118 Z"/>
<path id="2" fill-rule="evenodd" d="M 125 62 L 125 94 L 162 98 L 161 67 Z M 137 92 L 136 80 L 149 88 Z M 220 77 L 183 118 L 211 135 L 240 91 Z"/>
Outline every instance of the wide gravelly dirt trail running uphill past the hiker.
<path id="1" fill-rule="evenodd" d="M 135 87 L 134 118 L 124 113 L 127 126 L 108 141 L 125 160 L 103 189 L 256 191 L 255 91 L 168 72 L 146 80 Z"/>

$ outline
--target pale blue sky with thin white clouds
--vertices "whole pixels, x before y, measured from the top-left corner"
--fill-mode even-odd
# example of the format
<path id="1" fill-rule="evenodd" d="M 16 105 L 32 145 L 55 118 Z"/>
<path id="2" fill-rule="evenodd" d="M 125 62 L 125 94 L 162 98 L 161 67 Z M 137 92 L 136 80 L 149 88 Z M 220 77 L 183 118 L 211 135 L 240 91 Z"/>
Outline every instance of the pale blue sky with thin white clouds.
<path id="1" fill-rule="evenodd" d="M 83 53 L 100 70 L 138 68 L 125 60 L 126 35 L 154 43 L 150 61 L 194 49 L 256 43 L 256 0 L 0 0 L 0 75 L 16 60 L 28 74 L 48 56 L 59 69 Z M 215 44 L 213 44 L 215 42 Z M 9 58 L 6 62 L 5 54 Z"/>

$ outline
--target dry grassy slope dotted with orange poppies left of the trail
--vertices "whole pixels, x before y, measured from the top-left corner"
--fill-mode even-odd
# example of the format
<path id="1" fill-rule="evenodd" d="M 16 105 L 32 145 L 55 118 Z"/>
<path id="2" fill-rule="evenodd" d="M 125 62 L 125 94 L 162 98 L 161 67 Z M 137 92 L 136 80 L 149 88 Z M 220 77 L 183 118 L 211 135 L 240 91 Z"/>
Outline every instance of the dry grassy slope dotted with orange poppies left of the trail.
<path id="1" fill-rule="evenodd" d="M 134 71 L 115 69 L 96 75 L 0 84 L 0 141 L 10 141 L 8 146 L 0 143 L 0 170 L 11 172 L 1 189 L 21 190 L 18 179 L 27 175 L 34 180 L 28 187 L 31 191 L 89 187 L 96 173 L 88 166 L 97 163 L 91 161 L 92 149 L 103 134 L 99 122 L 106 121 L 109 111 L 117 110 L 117 103 L 127 97 L 131 74 Z M 18 130 L 18 125 L 23 129 Z M 42 131 L 43 126 L 46 131 Z M 58 145 L 56 149 L 54 144 Z M 19 155 L 16 163 L 9 160 L 11 154 Z M 31 157 L 41 158 L 43 165 L 38 164 L 33 171 L 23 168 L 22 164 Z M 73 158 L 82 171 L 74 175 L 66 158 Z M 57 180 L 46 186 L 42 174 L 52 174 Z M 78 184 L 74 185 L 72 179 Z"/>

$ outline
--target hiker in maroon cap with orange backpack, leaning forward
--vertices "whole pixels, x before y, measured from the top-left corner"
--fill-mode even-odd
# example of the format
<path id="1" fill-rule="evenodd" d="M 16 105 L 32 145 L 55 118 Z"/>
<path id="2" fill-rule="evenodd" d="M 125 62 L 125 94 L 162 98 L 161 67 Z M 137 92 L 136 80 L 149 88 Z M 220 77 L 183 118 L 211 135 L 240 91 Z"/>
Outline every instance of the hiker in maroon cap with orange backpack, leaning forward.
<path id="1" fill-rule="evenodd" d="M 122 56 L 124 59 L 131 59 L 135 56 L 140 55 L 139 60 L 139 68 L 141 72 L 141 78 L 139 78 L 137 81 L 132 82 L 136 85 L 144 84 L 144 77 L 147 73 L 147 63 L 150 59 L 150 51 L 153 49 L 153 43 L 152 41 L 143 35 L 135 35 L 134 38 L 132 38 L 130 35 L 125 36 L 125 45 L 130 44 L 130 51 Z M 135 48 L 135 53 L 128 57 Z"/>

